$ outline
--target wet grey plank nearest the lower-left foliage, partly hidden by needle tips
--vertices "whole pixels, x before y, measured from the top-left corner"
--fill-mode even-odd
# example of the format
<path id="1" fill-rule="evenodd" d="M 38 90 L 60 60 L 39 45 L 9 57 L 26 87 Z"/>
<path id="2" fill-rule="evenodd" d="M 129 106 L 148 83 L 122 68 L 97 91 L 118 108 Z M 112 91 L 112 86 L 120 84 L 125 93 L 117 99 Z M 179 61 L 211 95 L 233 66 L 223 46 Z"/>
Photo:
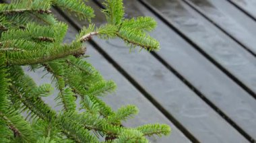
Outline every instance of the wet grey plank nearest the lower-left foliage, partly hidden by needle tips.
<path id="1" fill-rule="evenodd" d="M 58 19 L 65 21 L 59 13 L 53 11 Z M 65 42 L 71 42 L 75 38 L 77 30 L 69 25 L 69 31 Z M 184 135 L 170 122 L 164 115 L 148 101 L 123 75 L 121 75 L 106 59 L 104 59 L 100 53 L 98 53 L 90 44 L 87 46 L 87 54 L 90 58 L 86 60 L 90 61 L 99 71 L 102 73 L 105 79 L 114 80 L 117 83 L 117 91 L 104 97 L 104 101 L 108 103 L 113 109 L 117 109 L 123 105 L 136 105 L 139 108 L 139 114 L 134 119 L 128 120 L 124 123 L 125 126 L 141 126 L 143 124 L 168 124 L 172 128 L 172 134 L 168 137 L 162 138 L 150 138 L 151 142 L 190 142 Z M 34 76 L 38 77 L 38 76 Z M 46 78 L 48 79 L 48 78 Z M 38 79 L 39 80 L 39 79 Z M 154 114 L 154 115 L 153 115 Z"/>

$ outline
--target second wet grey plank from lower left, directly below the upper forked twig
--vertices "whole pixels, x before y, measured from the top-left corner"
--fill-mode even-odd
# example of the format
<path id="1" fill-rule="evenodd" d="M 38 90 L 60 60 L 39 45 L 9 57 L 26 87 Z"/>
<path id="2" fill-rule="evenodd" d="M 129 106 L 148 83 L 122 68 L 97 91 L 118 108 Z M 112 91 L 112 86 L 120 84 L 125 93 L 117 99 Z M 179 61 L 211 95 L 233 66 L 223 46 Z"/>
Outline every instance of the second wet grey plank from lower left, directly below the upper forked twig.
<path id="1" fill-rule="evenodd" d="M 98 11 L 96 15 L 99 23 L 104 21 L 104 17 Z M 85 24 L 79 23 L 79 26 Z M 247 142 L 241 134 L 238 134 L 148 52 L 135 51 L 129 54 L 128 48 L 121 40 L 108 42 L 98 38 L 94 40 L 198 140 L 201 142 Z"/>

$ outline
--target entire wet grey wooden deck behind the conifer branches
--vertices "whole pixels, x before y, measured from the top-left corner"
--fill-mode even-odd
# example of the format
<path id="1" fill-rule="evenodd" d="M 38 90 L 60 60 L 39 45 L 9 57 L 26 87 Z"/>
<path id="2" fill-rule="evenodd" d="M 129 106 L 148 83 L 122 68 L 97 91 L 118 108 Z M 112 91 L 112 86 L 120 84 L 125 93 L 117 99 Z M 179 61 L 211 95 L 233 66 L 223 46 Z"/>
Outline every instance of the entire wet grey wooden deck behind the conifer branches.
<path id="1" fill-rule="evenodd" d="M 121 40 L 94 38 L 90 62 L 118 90 L 104 100 L 113 108 L 135 104 L 140 113 L 125 126 L 164 123 L 172 134 L 151 142 L 255 142 L 256 1 L 124 0 L 126 17 L 158 21 L 151 35 L 160 52 L 132 52 Z M 97 25 L 104 23 L 100 1 Z M 66 42 L 87 25 L 63 11 Z"/>

